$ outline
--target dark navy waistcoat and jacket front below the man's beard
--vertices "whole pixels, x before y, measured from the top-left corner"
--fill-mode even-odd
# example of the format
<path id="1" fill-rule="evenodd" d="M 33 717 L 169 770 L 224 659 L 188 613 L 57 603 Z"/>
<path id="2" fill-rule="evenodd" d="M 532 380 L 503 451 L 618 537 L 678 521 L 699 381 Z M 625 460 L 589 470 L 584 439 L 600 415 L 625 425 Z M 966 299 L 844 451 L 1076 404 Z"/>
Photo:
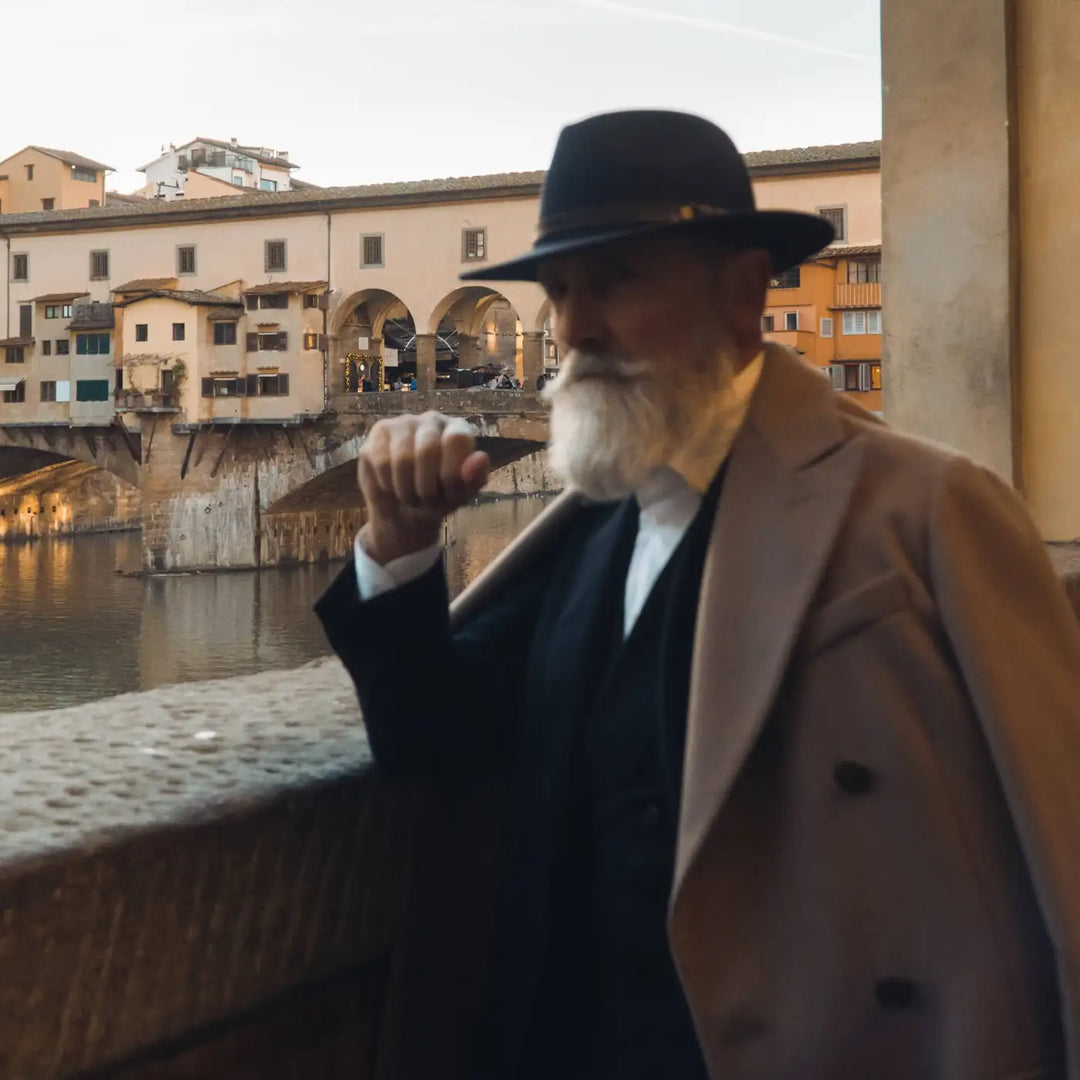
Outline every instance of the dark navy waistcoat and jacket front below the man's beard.
<path id="1" fill-rule="evenodd" d="M 552 576 L 524 688 L 513 770 L 523 782 L 511 791 L 511 814 L 526 823 L 512 828 L 524 843 L 512 840 L 509 860 L 514 1078 L 705 1076 L 665 919 L 694 616 L 720 483 L 625 640 L 633 500 L 598 510 Z M 515 920 L 530 908 L 531 919 Z"/>

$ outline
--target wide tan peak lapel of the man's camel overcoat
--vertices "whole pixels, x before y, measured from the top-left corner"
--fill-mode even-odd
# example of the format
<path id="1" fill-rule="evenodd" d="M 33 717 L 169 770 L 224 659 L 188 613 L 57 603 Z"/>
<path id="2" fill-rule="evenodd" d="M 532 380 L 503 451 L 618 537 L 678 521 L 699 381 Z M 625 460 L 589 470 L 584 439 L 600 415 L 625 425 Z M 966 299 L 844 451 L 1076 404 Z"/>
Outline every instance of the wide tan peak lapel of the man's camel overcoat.
<path id="1" fill-rule="evenodd" d="M 832 388 L 770 347 L 732 448 L 702 578 L 673 912 L 775 698 L 861 457 Z"/>

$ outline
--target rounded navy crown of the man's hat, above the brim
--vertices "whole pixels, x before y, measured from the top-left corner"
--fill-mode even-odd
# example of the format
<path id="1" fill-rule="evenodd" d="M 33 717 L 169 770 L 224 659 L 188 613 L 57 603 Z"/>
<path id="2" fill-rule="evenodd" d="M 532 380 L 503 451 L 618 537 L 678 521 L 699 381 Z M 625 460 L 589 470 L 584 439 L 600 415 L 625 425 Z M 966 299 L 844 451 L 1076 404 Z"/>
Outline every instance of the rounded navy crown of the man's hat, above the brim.
<path id="1" fill-rule="evenodd" d="M 559 133 L 540 197 L 540 227 L 621 206 L 755 208 L 734 143 L 702 117 L 665 110 L 608 112 Z"/>

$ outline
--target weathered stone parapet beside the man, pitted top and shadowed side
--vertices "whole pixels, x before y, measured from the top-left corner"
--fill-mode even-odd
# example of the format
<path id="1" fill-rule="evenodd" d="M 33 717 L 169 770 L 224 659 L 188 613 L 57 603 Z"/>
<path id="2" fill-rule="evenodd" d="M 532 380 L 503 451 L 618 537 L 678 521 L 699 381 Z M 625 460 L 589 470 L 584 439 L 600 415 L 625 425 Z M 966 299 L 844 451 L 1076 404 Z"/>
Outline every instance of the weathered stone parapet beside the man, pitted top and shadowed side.
<path id="1" fill-rule="evenodd" d="M 470 861 L 431 792 L 373 778 L 336 661 L 0 740 L 5 1080 L 450 1075 L 469 975 L 437 956 L 470 940 Z"/>

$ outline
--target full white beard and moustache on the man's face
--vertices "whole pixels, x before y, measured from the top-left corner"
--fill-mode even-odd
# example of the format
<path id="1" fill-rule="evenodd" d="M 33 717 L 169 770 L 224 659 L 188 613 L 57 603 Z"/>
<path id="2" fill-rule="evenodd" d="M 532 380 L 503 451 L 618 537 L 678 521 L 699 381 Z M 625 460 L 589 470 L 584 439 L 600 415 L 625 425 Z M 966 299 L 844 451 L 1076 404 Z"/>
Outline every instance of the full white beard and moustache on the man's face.
<path id="1" fill-rule="evenodd" d="M 571 352 L 543 391 L 551 403 L 552 469 L 591 499 L 631 495 L 700 434 L 730 389 L 731 360 L 730 349 L 716 346 L 662 368 Z"/>

